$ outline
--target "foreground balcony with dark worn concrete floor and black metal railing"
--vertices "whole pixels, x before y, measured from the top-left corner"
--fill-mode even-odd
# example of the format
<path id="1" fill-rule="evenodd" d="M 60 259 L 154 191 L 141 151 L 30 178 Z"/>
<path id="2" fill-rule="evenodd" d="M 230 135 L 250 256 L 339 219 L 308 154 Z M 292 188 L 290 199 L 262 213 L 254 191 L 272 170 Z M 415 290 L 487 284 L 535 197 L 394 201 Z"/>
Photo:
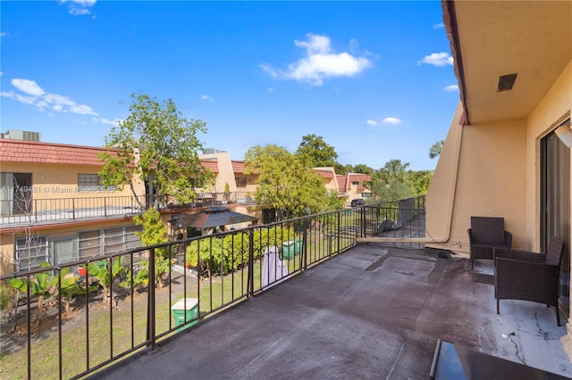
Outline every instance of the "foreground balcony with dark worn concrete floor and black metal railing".
<path id="1" fill-rule="evenodd" d="M 380 231 L 400 212 L 399 229 Z M 497 315 L 492 285 L 475 281 L 467 259 L 408 243 L 424 220 L 422 209 L 368 205 L 93 257 L 104 268 L 122 258 L 114 302 L 80 294 L 70 317 L 55 295 L 42 329 L 33 294 L 21 293 L 20 335 L 2 332 L 0 377 L 417 379 L 429 377 L 438 339 L 571 376 L 553 310 L 503 301 Z M 374 235 L 395 243 L 357 243 Z M 163 288 L 120 285 L 146 258 L 155 284 L 165 249 L 175 264 Z M 14 276 L 50 270 L 61 287 L 64 268 L 85 266 Z M 185 299 L 197 312 L 177 322 L 172 307 Z"/>

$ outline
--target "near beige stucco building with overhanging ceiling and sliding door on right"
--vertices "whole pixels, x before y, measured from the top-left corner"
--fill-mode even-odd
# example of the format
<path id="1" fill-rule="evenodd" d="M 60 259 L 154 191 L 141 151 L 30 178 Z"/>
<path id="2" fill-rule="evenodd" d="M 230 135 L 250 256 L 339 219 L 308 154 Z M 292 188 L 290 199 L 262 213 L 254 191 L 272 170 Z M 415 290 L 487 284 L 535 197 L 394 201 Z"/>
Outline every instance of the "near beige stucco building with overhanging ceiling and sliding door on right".
<path id="1" fill-rule="evenodd" d="M 503 217 L 517 249 L 559 237 L 568 318 L 572 2 L 442 6 L 460 103 L 426 197 L 426 246 L 467 255 L 471 216 Z"/>

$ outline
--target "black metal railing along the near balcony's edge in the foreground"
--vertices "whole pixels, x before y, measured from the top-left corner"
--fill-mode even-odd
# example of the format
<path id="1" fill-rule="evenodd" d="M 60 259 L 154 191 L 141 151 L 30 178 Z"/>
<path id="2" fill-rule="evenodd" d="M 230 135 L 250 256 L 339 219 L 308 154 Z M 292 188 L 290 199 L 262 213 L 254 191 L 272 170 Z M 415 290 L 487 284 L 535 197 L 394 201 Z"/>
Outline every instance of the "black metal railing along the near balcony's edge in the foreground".
<path id="1" fill-rule="evenodd" d="M 380 223 L 392 220 L 389 217 L 399 219 L 400 212 L 411 217 L 400 229 L 425 234 L 425 229 L 414 232 L 408 227 L 424 216 L 423 209 L 399 210 L 380 203 L 108 252 L 0 277 L 4 289 L 18 285 L 19 291 L 10 298 L 15 300 L 13 309 L 4 310 L 4 318 L 12 321 L 13 331 L 20 332 L 2 332 L 0 377 L 4 373 L 35 378 L 49 373 L 79 378 L 136 351 L 154 349 L 214 313 L 349 250 L 357 238 L 379 235 Z M 81 276 L 71 275 L 75 273 Z M 46 276 L 52 278 L 52 286 L 38 289 Z M 156 286 L 159 283 L 164 287 Z M 34 322 L 42 301 L 38 295 L 46 296 L 43 304 L 52 305 L 40 327 Z M 66 314 L 65 305 L 71 299 L 76 310 Z M 175 313 L 175 306 L 182 311 Z M 42 324 L 48 326 L 43 331 Z"/>

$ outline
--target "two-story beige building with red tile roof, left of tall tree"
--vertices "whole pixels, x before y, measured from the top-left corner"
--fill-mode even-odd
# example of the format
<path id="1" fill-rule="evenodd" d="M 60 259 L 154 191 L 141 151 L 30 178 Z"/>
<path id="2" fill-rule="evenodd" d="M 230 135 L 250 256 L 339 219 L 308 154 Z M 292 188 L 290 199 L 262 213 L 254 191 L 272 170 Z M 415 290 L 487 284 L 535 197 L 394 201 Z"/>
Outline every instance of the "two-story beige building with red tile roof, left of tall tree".
<path id="1" fill-rule="evenodd" d="M 141 207 L 129 186 L 102 185 L 101 152 L 0 139 L 1 274 L 140 245 L 132 216 Z M 140 181 L 135 186 L 145 195 Z"/>

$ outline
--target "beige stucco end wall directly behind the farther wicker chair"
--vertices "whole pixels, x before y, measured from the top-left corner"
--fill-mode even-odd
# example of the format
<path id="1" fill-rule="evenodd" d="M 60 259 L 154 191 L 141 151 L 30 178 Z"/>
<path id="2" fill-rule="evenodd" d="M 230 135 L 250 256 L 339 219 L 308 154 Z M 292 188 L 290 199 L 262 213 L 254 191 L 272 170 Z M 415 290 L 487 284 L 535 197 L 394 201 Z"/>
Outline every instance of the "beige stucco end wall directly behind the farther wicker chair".
<path id="1" fill-rule="evenodd" d="M 462 128 L 462 133 L 455 128 Z M 525 247 L 526 120 L 463 127 L 453 122 L 451 129 L 443 146 L 448 154 L 440 158 L 427 196 L 427 231 L 435 240 L 446 235 L 444 222 L 452 197 L 450 235 L 446 242 L 428 246 L 467 254 L 470 217 L 494 216 L 505 219 L 513 246 Z M 458 169 L 453 182 L 450 170 L 455 169 L 455 160 Z M 436 204 L 442 205 L 442 210 Z M 433 215 L 439 212 L 444 214 Z"/>

